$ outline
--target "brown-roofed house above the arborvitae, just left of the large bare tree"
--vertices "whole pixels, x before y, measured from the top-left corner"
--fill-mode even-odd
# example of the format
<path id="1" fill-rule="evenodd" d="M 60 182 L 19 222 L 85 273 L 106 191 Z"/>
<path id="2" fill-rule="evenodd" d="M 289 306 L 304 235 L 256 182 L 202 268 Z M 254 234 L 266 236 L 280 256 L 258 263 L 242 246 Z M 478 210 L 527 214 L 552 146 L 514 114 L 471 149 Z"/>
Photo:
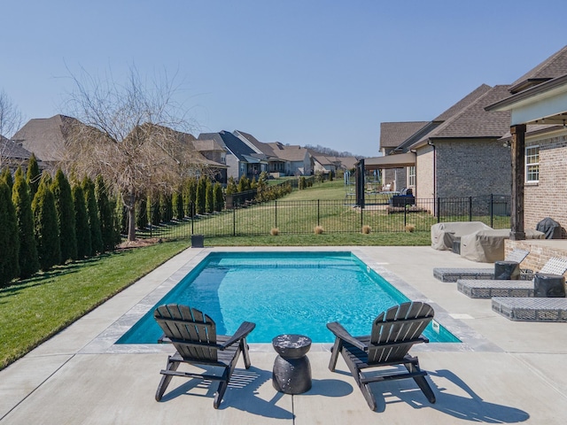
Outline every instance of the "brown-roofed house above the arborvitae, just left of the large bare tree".
<path id="1" fill-rule="evenodd" d="M 71 129 L 80 123 L 79 120 L 60 114 L 51 118 L 36 118 L 27 121 L 13 135 L 12 140 L 33 152 L 45 168 L 52 169 L 65 156 L 65 145 L 69 141 Z"/>

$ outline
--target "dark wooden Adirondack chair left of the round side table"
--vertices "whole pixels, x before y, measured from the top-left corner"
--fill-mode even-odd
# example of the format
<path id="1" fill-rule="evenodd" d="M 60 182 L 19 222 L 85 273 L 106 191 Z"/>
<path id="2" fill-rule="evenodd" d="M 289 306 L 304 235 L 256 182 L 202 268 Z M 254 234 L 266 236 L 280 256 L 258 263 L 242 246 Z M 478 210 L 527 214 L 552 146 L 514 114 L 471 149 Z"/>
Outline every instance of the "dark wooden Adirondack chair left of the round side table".
<path id="1" fill-rule="evenodd" d="M 256 325 L 245 321 L 233 336 L 219 336 L 216 335 L 216 325 L 209 316 L 190 306 L 177 304 L 160 305 L 153 317 L 164 331 L 163 340 L 174 344 L 177 350 L 173 356 L 167 358 L 166 369 L 159 372 L 163 376 L 156 391 L 156 400 L 162 398 L 174 376 L 206 379 L 219 382 L 213 402 L 214 408 L 217 409 L 229 386 L 230 376 L 241 352 L 245 367 L 249 368 L 251 365 L 246 336 Z M 208 371 L 201 374 L 178 372 L 177 367 L 181 363 L 198 367 L 221 367 L 222 373 L 216 375 Z"/>

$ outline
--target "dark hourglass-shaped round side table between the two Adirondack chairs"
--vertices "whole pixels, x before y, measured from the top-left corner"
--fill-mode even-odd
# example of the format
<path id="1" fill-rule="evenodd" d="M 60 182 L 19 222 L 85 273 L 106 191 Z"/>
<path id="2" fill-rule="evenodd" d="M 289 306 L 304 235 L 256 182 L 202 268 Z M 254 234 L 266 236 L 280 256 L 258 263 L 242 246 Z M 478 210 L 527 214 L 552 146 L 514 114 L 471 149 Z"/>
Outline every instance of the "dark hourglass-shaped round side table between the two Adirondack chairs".
<path id="1" fill-rule="evenodd" d="M 284 334 L 272 340 L 278 353 L 274 361 L 272 383 L 285 394 L 301 394 L 311 389 L 311 364 L 307 352 L 311 338 L 303 335 Z"/>

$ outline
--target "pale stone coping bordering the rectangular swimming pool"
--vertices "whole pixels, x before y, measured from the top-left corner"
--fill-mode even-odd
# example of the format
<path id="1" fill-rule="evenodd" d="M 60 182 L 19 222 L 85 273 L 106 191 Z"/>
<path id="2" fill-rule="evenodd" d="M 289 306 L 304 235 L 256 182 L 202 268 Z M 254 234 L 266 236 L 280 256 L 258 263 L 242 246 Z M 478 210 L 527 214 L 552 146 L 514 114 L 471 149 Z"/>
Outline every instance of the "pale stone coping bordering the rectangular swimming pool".
<path id="1" fill-rule="evenodd" d="M 300 249 L 286 251 L 321 251 L 321 252 L 351 252 L 355 257 L 361 260 L 367 267 L 370 267 L 377 274 L 391 283 L 393 287 L 399 290 L 404 296 L 414 301 L 423 301 L 430 304 L 435 311 L 435 321 L 438 321 L 443 327 L 447 328 L 454 336 L 457 336 L 461 343 L 430 343 L 416 345 L 412 351 L 415 352 L 502 352 L 497 345 L 487 341 L 485 337 L 480 336 L 474 329 L 470 328 L 463 321 L 455 318 L 431 299 L 426 298 L 420 291 L 416 290 L 408 282 L 405 282 L 397 274 L 392 273 L 384 267 L 384 263 L 380 263 L 369 257 L 360 249 L 345 248 L 338 249 Z M 239 249 L 237 251 L 248 251 Z M 273 249 L 254 249 L 252 252 L 274 252 Z M 171 352 L 171 347 L 167 344 L 115 344 L 121 336 L 123 336 L 129 328 L 131 328 L 145 313 L 163 298 L 169 290 L 172 290 L 193 268 L 197 267 L 201 261 L 212 253 L 218 252 L 235 252 L 226 248 L 205 248 L 198 252 L 193 258 L 189 259 L 182 267 L 178 268 L 173 274 L 169 275 L 166 280 L 161 282 L 159 286 L 150 291 L 136 305 L 124 313 L 117 321 L 105 328 L 96 338 L 85 345 L 80 353 L 82 354 L 103 354 L 103 353 L 156 353 Z M 272 352 L 271 344 L 250 343 L 250 351 L 252 352 Z M 330 352 L 331 343 L 315 343 L 312 345 L 312 352 Z"/>

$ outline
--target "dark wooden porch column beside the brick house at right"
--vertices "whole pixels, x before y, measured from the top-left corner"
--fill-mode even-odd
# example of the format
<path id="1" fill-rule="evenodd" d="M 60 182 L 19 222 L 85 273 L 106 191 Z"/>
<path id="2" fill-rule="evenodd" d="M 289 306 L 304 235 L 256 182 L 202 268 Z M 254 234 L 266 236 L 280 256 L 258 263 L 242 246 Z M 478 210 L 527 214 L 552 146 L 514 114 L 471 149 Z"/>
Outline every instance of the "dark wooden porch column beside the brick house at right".
<path id="1" fill-rule="evenodd" d="M 524 177 L 525 177 L 525 124 L 510 127 L 512 140 L 512 208 L 510 212 L 510 239 L 523 241 L 524 232 Z"/>

